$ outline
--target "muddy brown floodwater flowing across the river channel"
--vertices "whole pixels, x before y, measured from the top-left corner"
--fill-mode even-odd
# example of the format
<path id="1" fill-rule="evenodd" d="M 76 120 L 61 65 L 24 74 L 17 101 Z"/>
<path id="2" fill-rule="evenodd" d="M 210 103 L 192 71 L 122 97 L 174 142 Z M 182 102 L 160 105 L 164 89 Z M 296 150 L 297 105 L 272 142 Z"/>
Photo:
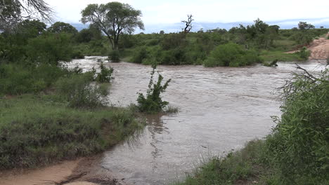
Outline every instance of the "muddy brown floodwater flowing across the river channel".
<path id="1" fill-rule="evenodd" d="M 98 67 L 105 57 L 70 62 L 84 70 Z M 97 62 L 98 61 L 98 62 Z M 108 100 L 115 106 L 136 103 L 145 93 L 150 66 L 110 63 L 115 69 Z M 299 64 L 309 71 L 323 69 L 324 61 Z M 240 149 L 245 142 L 271 132 L 270 116 L 280 116 L 275 93 L 295 71 L 293 63 L 278 67 L 159 66 L 164 79 L 172 78 L 163 99 L 179 113 L 148 116 L 150 123 L 133 142 L 122 142 L 101 159 L 101 168 L 130 184 L 167 184 L 191 173 L 209 156 Z"/>

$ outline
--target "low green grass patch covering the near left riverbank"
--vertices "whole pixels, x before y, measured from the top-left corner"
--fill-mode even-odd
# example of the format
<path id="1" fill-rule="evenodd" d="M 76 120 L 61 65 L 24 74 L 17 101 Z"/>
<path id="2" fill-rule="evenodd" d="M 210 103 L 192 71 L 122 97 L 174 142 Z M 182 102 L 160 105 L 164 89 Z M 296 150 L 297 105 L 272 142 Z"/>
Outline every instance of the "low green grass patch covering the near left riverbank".
<path id="1" fill-rule="evenodd" d="M 71 109 L 36 95 L 0 99 L 0 169 L 104 151 L 143 127 L 134 117 L 129 109 Z"/>

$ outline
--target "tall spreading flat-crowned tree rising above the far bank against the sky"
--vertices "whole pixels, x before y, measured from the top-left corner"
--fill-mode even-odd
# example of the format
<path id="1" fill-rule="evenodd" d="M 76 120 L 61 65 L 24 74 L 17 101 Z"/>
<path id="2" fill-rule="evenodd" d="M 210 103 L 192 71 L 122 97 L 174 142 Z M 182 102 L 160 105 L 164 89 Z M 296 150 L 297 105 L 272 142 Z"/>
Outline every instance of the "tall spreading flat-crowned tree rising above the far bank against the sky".
<path id="1" fill-rule="evenodd" d="M 89 4 L 81 13 L 81 22 L 98 25 L 110 40 L 112 50 L 118 50 L 120 34 L 131 34 L 136 27 L 144 29 L 141 11 L 135 10 L 129 4 L 120 2 Z"/>

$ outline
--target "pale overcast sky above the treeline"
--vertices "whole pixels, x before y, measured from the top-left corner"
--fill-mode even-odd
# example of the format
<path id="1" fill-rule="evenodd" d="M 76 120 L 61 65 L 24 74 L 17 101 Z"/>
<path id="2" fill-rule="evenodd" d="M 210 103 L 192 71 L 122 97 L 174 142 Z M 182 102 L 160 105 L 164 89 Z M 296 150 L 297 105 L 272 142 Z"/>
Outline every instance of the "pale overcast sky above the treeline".
<path id="1" fill-rule="evenodd" d="M 56 11 L 56 20 L 76 23 L 88 4 L 106 0 L 45 0 Z M 329 0 L 118 0 L 143 13 L 146 25 L 170 24 L 194 16 L 195 22 L 252 22 L 304 18 L 328 18 Z"/>

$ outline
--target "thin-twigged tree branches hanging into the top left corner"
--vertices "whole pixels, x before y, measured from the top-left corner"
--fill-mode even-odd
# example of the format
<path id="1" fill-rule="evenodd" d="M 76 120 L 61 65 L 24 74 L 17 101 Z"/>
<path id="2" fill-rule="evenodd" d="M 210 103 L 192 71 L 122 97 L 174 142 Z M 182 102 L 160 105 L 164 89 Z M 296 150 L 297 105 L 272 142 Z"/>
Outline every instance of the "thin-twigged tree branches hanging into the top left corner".
<path id="1" fill-rule="evenodd" d="M 51 22 L 53 10 L 44 0 L 0 0 L 0 30 L 11 30 L 22 20 Z"/>

